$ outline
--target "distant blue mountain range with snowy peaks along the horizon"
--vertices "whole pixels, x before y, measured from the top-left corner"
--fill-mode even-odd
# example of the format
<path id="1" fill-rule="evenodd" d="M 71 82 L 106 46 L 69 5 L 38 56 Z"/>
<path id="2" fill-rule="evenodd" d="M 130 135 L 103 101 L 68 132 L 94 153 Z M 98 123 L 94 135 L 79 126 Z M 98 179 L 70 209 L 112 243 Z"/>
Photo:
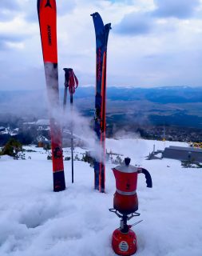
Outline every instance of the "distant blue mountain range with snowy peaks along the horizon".
<path id="1" fill-rule="evenodd" d="M 0 90 L 0 104 L 16 98 L 31 98 L 36 96 L 42 98 L 44 94 L 46 94 L 46 90 Z M 60 94 L 62 96 L 62 89 L 60 89 Z M 95 90 L 93 86 L 80 86 L 77 88 L 74 98 L 93 98 L 94 94 Z M 150 102 L 162 104 L 202 102 L 202 87 L 162 86 L 141 88 L 111 86 L 107 88 L 107 98 L 112 101 L 136 101 L 145 99 Z"/>

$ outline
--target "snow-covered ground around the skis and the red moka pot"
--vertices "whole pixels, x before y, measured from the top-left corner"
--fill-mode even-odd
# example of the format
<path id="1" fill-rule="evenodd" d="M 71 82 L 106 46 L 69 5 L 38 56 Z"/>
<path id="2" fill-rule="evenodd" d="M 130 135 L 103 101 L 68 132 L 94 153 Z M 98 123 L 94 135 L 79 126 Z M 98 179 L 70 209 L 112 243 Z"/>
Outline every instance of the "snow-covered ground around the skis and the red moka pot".
<path id="1" fill-rule="evenodd" d="M 138 178 L 138 198 L 143 219 L 134 227 L 137 254 L 141 256 L 202 255 L 202 170 L 184 169 L 180 161 L 145 160 L 164 146 L 187 146 L 179 142 L 141 139 L 108 139 L 107 150 L 132 158 L 152 175 L 153 187 Z M 65 161 L 67 189 L 53 192 L 52 163 L 45 150 L 25 147 L 26 160 L 0 158 L 0 255 L 1 256 L 113 256 L 111 235 L 119 218 L 113 207 L 115 180 L 106 165 L 106 193 L 93 190 L 93 169 L 75 161 L 71 184 L 71 162 Z M 69 149 L 65 149 L 65 155 Z M 75 154 L 85 150 L 76 148 Z"/>

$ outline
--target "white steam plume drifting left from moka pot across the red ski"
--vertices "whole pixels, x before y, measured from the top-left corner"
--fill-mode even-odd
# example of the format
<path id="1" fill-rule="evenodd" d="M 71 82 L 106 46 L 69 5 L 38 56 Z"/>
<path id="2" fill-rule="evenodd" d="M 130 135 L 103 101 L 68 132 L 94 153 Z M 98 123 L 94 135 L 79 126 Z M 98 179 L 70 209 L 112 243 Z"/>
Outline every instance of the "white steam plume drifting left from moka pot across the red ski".
<path id="1" fill-rule="evenodd" d="M 69 131 L 72 129 L 74 136 L 80 138 L 91 151 L 91 156 L 96 158 L 97 161 L 102 161 L 103 157 L 101 157 L 101 155 L 103 155 L 103 150 L 100 143 L 97 142 L 97 135 L 90 128 L 90 120 L 81 117 L 81 114 L 79 114 L 75 106 L 73 106 L 72 109 L 71 106 L 67 104 L 65 110 L 63 110 L 58 104 L 59 98 L 55 94 L 58 88 L 57 66 L 54 66 L 53 63 L 46 63 L 45 74 L 46 83 L 49 85 L 48 102 L 50 118 L 53 118 L 55 122 L 61 126 L 62 130 L 64 130 L 65 127 L 68 127 Z M 65 132 L 68 133 L 68 130 L 65 130 Z"/>

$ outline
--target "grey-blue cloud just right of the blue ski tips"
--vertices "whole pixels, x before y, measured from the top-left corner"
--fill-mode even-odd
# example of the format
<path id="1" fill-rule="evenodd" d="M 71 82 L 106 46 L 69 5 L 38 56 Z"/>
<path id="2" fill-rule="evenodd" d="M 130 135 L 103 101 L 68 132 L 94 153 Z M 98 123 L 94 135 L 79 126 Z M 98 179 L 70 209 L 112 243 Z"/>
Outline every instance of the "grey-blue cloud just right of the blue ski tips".
<path id="1" fill-rule="evenodd" d="M 121 22 L 114 26 L 114 31 L 119 34 L 148 34 L 152 30 L 153 18 L 149 13 L 137 13 L 125 15 Z"/>

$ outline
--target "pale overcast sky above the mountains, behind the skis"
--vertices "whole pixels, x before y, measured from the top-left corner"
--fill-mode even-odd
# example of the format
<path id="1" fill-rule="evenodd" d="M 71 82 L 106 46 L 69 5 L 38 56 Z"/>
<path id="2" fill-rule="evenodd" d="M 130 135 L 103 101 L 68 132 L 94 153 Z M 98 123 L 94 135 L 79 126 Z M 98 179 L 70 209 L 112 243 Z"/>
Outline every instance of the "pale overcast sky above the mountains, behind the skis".
<path id="1" fill-rule="evenodd" d="M 57 0 L 59 83 L 95 82 L 90 14 L 111 22 L 108 86 L 202 86 L 202 0 Z M 45 88 L 37 0 L 0 0 L 0 90 Z"/>

